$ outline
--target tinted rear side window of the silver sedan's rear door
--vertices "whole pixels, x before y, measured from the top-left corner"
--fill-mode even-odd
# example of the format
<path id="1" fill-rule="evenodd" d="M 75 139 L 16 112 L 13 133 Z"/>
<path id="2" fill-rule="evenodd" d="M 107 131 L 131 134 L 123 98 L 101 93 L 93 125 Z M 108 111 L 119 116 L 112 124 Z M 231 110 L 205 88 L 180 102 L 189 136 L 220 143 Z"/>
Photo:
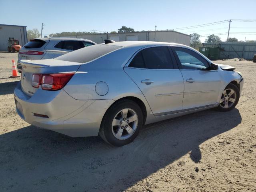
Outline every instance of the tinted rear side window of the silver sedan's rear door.
<path id="1" fill-rule="evenodd" d="M 138 52 L 129 67 L 147 69 L 174 69 L 168 47 L 146 48 Z"/>

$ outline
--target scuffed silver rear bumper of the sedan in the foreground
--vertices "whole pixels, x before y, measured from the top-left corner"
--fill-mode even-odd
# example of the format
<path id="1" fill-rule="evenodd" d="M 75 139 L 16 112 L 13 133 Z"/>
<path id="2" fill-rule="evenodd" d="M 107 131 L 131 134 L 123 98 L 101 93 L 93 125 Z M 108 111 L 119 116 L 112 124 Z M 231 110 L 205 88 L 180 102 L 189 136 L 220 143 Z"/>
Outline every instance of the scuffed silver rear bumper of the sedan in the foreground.
<path id="1" fill-rule="evenodd" d="M 16 111 L 26 122 L 71 137 L 97 136 L 102 117 L 114 100 L 75 100 L 64 90 L 38 89 L 29 97 L 20 83 L 14 90 Z M 35 116 L 47 115 L 49 118 Z"/>

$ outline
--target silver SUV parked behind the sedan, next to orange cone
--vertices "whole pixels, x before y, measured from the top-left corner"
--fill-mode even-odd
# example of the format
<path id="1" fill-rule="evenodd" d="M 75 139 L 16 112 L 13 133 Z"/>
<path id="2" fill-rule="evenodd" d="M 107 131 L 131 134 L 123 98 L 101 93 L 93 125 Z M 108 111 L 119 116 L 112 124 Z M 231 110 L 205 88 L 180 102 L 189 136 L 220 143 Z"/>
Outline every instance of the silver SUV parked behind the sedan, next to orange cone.
<path id="1" fill-rule="evenodd" d="M 22 71 L 20 60 L 40 60 L 40 59 L 52 59 L 66 53 L 94 45 L 91 40 L 82 38 L 34 38 L 30 39 L 18 53 L 17 68 L 18 71 Z"/>

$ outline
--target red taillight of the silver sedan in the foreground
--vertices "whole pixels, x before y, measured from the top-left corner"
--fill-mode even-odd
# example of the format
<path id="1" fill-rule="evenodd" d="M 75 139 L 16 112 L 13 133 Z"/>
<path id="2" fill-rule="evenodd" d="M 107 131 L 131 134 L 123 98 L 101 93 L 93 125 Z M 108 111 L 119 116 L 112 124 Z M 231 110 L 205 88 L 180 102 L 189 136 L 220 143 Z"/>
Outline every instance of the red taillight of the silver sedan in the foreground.
<path id="1" fill-rule="evenodd" d="M 43 90 L 56 91 L 62 89 L 75 73 L 55 73 L 55 74 L 33 74 L 32 86 Z"/>

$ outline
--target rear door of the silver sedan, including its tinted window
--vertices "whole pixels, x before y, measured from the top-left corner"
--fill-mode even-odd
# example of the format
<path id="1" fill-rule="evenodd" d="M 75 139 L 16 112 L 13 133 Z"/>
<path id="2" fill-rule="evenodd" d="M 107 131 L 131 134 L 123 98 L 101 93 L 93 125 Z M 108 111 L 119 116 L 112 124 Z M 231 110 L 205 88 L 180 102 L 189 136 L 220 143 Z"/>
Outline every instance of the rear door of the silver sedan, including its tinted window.
<path id="1" fill-rule="evenodd" d="M 154 115 L 182 110 L 184 82 L 170 46 L 140 50 L 124 71 L 140 88 Z"/>

